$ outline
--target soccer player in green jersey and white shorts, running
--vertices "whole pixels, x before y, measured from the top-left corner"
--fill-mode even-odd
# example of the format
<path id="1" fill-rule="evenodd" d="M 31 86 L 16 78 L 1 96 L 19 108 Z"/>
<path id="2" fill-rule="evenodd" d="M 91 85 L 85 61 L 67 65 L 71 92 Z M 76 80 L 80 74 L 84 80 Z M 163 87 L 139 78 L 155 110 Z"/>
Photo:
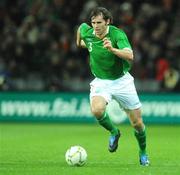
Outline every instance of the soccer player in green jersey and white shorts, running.
<path id="1" fill-rule="evenodd" d="M 91 72 L 95 76 L 90 83 L 91 111 L 99 124 L 110 132 L 108 149 L 115 152 L 121 133 L 106 112 L 106 105 L 111 99 L 115 99 L 126 111 L 135 129 L 140 164 L 148 166 L 141 103 L 134 86 L 134 78 L 128 72 L 134 59 L 132 48 L 124 31 L 110 25 L 112 15 L 106 8 L 93 9 L 90 20 L 92 26 L 86 23 L 79 26 L 76 42 L 77 46 L 88 49 Z"/>

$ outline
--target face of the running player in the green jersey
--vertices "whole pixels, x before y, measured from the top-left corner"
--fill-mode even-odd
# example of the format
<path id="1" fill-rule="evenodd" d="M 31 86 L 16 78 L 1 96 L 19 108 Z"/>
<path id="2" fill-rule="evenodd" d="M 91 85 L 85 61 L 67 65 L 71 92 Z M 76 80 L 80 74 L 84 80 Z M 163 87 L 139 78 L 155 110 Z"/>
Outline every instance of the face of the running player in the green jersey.
<path id="1" fill-rule="evenodd" d="M 107 31 L 107 26 L 109 24 L 109 20 L 105 21 L 103 19 L 102 15 L 98 15 L 98 16 L 92 17 L 91 24 L 92 24 L 92 27 L 95 31 L 95 34 L 97 36 L 102 36 Z"/>

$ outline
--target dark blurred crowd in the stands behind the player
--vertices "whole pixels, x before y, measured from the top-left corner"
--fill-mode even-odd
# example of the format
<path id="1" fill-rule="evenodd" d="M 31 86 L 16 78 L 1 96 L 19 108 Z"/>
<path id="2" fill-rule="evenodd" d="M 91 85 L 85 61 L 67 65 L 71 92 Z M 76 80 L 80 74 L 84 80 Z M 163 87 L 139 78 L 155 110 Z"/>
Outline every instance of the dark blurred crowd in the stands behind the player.
<path id="1" fill-rule="evenodd" d="M 127 33 L 139 87 L 180 91 L 178 0 L 1 0 L 1 91 L 88 90 L 88 53 L 75 38 L 96 6 L 109 9 Z"/>

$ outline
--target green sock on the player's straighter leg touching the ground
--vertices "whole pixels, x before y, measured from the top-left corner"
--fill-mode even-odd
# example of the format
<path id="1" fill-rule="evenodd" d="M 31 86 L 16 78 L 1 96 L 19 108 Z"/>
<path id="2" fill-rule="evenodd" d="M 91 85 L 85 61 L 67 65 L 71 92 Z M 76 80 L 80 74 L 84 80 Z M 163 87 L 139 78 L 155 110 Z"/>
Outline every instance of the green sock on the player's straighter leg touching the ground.
<path id="1" fill-rule="evenodd" d="M 138 141 L 140 154 L 145 154 L 146 153 L 146 132 L 145 132 L 145 128 L 142 131 L 136 131 L 135 130 L 134 135 Z"/>

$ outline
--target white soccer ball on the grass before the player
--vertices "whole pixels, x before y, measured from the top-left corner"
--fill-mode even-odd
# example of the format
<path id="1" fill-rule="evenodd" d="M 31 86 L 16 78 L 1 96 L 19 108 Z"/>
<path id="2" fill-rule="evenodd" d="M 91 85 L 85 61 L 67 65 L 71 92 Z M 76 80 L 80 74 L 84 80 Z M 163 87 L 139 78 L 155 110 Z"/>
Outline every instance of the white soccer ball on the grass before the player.
<path id="1" fill-rule="evenodd" d="M 87 152 L 81 146 L 71 146 L 66 151 L 65 159 L 70 166 L 83 166 L 87 161 Z"/>

